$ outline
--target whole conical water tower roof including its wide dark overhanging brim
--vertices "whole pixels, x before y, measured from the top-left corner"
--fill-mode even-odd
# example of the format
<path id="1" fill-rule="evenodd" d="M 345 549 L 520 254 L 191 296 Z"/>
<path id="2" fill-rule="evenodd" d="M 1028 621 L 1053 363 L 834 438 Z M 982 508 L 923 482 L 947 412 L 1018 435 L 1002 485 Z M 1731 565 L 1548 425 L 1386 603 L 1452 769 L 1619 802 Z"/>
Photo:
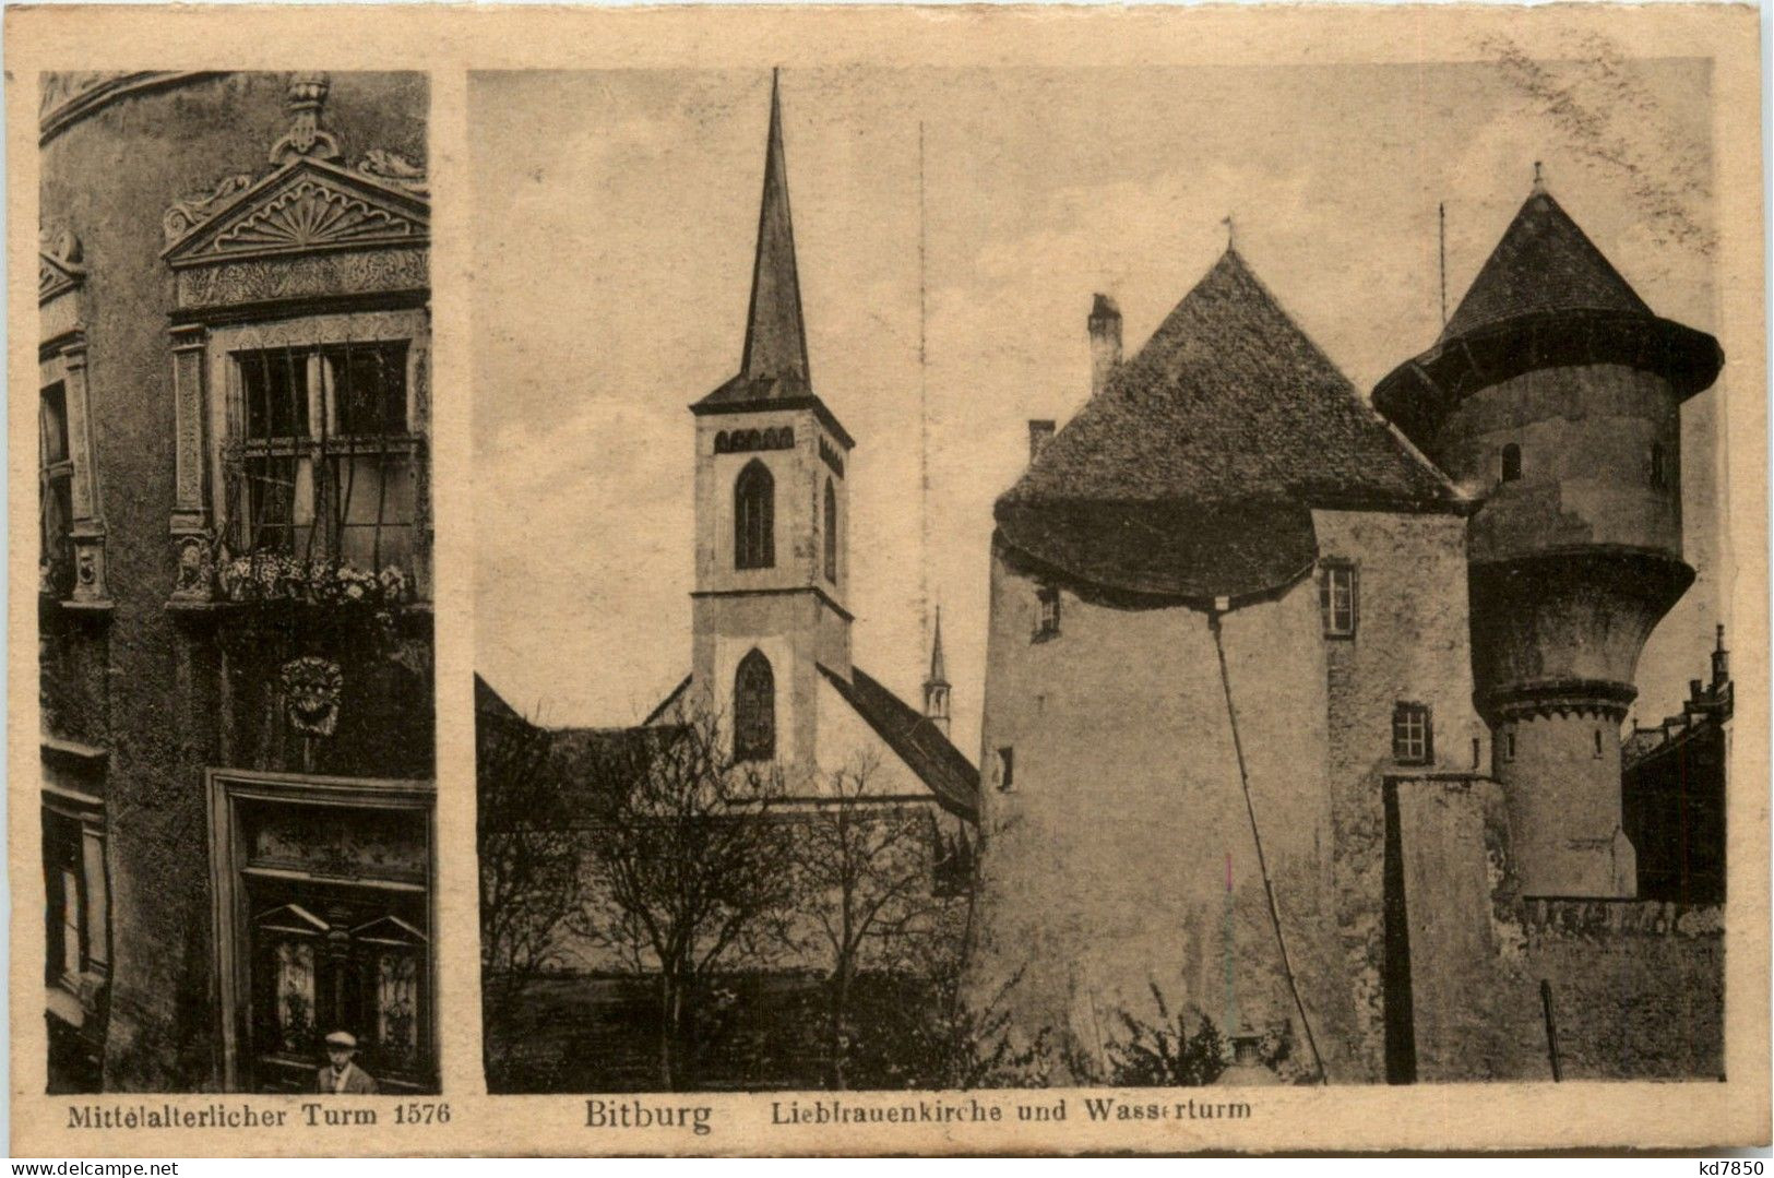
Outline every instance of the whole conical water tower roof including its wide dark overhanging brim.
<path id="1" fill-rule="evenodd" d="M 1382 380 L 1373 404 L 1430 447 L 1469 394 L 1531 369 L 1581 364 L 1646 369 L 1689 397 L 1717 380 L 1724 353 L 1712 335 L 1653 314 L 1536 183 L 1440 337 Z"/>

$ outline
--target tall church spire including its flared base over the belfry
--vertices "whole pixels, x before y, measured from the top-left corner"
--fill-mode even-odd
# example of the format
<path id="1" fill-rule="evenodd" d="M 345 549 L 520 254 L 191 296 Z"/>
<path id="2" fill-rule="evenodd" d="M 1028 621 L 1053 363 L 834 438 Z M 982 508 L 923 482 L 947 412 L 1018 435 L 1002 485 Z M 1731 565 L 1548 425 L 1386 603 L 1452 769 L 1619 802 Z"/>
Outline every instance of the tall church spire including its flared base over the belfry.
<path id="1" fill-rule="evenodd" d="M 757 206 L 757 252 L 752 298 L 745 316 L 740 373 L 690 406 L 697 413 L 740 413 L 761 408 L 812 408 L 852 445 L 850 435 L 812 392 L 807 365 L 807 323 L 800 307 L 795 264 L 795 224 L 788 206 L 788 160 L 782 154 L 782 96 L 770 78 L 770 137 L 765 142 L 765 192 Z"/>

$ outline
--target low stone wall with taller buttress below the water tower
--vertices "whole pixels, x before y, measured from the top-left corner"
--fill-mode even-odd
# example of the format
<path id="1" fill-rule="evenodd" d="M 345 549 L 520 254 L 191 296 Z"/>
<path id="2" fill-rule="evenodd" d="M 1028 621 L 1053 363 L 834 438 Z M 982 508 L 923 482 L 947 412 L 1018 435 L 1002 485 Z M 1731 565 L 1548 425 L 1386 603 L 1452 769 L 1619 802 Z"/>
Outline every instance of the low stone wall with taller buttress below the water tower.
<path id="1" fill-rule="evenodd" d="M 1522 899 L 1495 782 L 1387 788 L 1393 1079 L 1547 1080 L 1554 1041 L 1565 1080 L 1721 1075 L 1721 908 Z"/>

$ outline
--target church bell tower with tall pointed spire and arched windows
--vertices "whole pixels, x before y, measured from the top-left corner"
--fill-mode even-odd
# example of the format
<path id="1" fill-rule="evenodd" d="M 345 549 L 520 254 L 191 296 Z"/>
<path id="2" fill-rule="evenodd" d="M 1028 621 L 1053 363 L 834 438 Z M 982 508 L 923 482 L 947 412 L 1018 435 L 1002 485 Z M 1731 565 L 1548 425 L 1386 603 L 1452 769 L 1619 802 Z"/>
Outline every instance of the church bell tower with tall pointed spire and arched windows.
<path id="1" fill-rule="evenodd" d="M 775 75 L 740 373 L 690 412 L 695 697 L 740 759 L 811 765 L 821 667 L 850 678 L 855 444 L 812 390 Z"/>

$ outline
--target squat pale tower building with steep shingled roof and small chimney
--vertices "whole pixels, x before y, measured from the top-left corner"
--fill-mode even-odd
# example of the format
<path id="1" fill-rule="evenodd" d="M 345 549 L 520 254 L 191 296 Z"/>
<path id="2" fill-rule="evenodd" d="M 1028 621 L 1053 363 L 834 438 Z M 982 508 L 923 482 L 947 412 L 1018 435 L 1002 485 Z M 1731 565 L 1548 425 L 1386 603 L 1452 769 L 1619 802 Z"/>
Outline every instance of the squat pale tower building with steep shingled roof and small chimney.
<path id="1" fill-rule="evenodd" d="M 1480 772 L 1469 504 L 1233 250 L 1096 369 L 997 507 L 976 999 L 1079 1079 L 1153 986 L 1373 1079 L 1380 782 Z"/>

